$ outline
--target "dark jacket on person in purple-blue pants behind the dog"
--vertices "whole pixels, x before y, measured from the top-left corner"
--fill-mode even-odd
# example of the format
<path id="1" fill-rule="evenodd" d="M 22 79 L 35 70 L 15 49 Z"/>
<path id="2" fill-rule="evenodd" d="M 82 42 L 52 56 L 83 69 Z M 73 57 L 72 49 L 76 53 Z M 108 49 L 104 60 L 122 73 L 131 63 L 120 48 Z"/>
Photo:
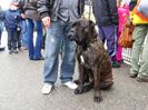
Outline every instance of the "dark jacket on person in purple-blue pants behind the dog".
<path id="1" fill-rule="evenodd" d="M 92 11 L 99 27 L 118 26 L 116 0 L 92 0 Z"/>

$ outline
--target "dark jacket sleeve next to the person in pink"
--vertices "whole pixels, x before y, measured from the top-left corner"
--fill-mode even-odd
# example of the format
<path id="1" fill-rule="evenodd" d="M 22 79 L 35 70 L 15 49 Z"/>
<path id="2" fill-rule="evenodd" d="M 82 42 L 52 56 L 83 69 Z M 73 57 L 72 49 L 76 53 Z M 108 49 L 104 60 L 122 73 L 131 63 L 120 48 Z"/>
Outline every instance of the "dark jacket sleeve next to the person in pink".
<path id="1" fill-rule="evenodd" d="M 109 6 L 112 23 L 118 26 L 118 10 L 117 10 L 116 0 L 108 0 L 108 6 Z"/>

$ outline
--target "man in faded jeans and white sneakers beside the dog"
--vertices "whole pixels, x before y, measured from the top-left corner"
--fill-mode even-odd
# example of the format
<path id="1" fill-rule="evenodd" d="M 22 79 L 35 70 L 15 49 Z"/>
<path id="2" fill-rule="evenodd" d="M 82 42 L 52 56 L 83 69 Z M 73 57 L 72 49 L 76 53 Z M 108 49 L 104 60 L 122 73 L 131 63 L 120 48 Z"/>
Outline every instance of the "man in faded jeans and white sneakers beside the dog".
<path id="1" fill-rule="evenodd" d="M 85 0 L 55 0 L 53 11 L 50 13 L 50 0 L 39 0 L 38 11 L 42 22 L 47 28 L 46 54 L 43 78 L 45 84 L 42 93 L 50 93 L 58 77 L 58 54 L 63 42 L 63 59 L 60 67 L 61 82 L 70 89 L 76 89 L 72 82 L 75 71 L 76 43 L 67 38 L 70 24 L 80 18 L 83 10 Z"/>

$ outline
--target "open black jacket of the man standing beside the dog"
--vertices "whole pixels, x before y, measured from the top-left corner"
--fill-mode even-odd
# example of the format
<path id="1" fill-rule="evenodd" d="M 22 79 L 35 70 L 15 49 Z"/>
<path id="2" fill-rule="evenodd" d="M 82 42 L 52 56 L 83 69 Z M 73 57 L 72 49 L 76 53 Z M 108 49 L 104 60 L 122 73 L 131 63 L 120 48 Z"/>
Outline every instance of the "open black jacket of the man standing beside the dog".
<path id="1" fill-rule="evenodd" d="M 50 4 L 51 1 L 50 0 L 38 0 L 38 12 L 40 13 L 41 18 L 45 18 L 45 17 L 56 18 L 57 17 L 60 0 L 53 0 L 55 2 L 53 7 Z M 85 9 L 85 0 L 79 0 L 78 13 L 80 17 L 83 13 L 83 9 Z"/>

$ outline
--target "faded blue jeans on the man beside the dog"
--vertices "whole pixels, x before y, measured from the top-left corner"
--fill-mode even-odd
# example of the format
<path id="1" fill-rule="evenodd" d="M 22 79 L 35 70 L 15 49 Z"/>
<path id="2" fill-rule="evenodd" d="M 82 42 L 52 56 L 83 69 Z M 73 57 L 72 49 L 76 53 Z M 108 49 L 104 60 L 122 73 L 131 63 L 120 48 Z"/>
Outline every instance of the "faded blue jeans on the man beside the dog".
<path id="1" fill-rule="evenodd" d="M 67 38 L 70 31 L 70 23 L 58 20 L 51 22 L 47 30 L 46 54 L 43 77 L 46 83 L 53 84 L 58 77 L 59 52 L 63 41 L 63 59 L 60 66 L 60 79 L 65 83 L 72 80 L 75 71 L 76 43 Z"/>

